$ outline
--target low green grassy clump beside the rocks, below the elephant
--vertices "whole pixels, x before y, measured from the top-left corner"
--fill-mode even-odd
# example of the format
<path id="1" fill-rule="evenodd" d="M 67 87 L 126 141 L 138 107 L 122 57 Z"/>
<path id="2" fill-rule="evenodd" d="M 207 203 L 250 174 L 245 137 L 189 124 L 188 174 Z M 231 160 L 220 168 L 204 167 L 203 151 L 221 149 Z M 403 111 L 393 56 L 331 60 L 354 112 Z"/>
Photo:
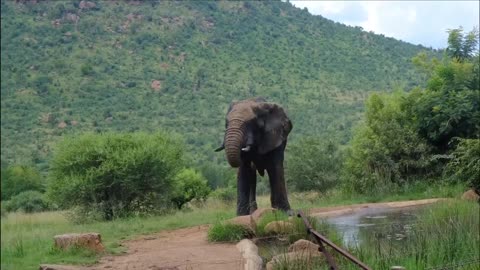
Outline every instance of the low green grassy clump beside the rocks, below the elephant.
<path id="1" fill-rule="evenodd" d="M 233 242 L 248 238 L 252 233 L 238 224 L 216 223 L 208 230 L 210 242 Z"/>

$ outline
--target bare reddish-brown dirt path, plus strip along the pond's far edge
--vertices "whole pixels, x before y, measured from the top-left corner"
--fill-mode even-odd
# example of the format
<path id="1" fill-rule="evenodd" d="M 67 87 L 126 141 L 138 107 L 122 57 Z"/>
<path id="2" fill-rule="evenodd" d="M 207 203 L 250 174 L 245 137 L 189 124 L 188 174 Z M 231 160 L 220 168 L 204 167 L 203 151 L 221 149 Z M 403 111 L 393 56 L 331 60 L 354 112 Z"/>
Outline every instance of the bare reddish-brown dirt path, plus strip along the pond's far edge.
<path id="1" fill-rule="evenodd" d="M 317 217 L 352 214 L 364 208 L 399 208 L 435 203 L 445 199 L 427 199 L 403 202 L 364 203 L 311 209 L 308 214 Z M 237 270 L 243 269 L 243 259 L 235 244 L 214 244 L 207 241 L 209 225 L 163 231 L 124 242 L 125 255 L 106 256 L 99 264 L 76 268 L 82 270 L 147 269 L 147 270 Z M 55 268 L 62 269 L 62 267 Z M 67 269 L 67 268 L 64 268 Z M 68 268 L 71 269 L 71 268 Z"/>

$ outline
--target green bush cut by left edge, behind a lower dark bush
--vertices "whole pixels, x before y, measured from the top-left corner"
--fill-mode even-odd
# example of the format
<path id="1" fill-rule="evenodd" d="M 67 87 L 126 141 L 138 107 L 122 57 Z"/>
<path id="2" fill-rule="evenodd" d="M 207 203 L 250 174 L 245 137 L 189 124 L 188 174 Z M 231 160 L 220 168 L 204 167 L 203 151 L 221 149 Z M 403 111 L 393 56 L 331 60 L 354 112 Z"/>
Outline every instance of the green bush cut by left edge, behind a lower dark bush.
<path id="1" fill-rule="evenodd" d="M 42 177 L 34 167 L 15 165 L 2 168 L 2 201 L 27 190 L 43 191 Z"/>

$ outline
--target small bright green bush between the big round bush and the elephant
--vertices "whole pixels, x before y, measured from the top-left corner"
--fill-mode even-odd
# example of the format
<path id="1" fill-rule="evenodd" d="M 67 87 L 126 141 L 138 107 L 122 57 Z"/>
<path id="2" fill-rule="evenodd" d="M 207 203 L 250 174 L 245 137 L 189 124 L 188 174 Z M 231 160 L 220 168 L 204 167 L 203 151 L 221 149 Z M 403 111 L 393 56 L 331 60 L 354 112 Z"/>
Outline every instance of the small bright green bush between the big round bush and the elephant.
<path id="1" fill-rule="evenodd" d="M 172 202 L 181 209 L 193 199 L 205 200 L 210 193 L 207 180 L 193 169 L 183 169 L 175 176 L 175 189 Z"/>

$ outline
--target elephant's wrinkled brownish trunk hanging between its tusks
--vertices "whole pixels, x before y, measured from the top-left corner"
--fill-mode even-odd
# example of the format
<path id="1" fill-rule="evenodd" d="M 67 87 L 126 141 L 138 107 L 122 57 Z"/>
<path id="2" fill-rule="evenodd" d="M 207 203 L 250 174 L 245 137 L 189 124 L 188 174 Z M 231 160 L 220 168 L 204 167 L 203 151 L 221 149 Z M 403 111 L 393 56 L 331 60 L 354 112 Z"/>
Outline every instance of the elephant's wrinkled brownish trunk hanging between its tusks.
<path id="1" fill-rule="evenodd" d="M 240 154 L 245 138 L 245 122 L 240 119 L 232 119 L 228 122 L 225 132 L 225 154 L 230 166 L 240 166 Z"/>

